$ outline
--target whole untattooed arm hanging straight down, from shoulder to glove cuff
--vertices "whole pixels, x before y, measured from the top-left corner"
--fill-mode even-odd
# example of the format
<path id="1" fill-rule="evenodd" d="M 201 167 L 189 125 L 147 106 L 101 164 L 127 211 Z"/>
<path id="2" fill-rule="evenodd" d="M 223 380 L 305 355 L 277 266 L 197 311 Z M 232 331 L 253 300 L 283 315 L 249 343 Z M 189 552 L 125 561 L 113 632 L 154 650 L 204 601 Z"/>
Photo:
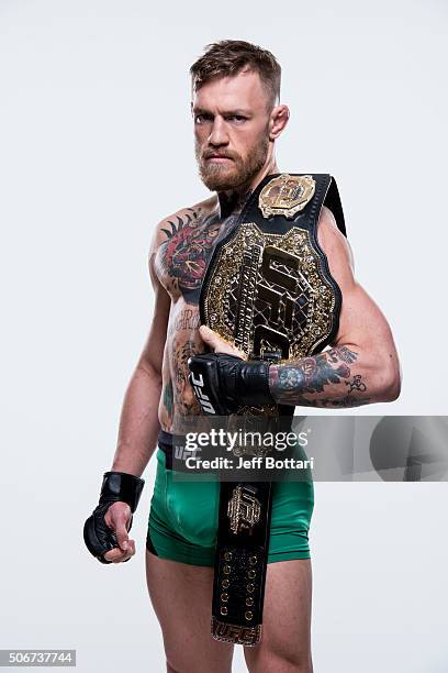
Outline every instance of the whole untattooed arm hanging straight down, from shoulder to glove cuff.
<path id="1" fill-rule="evenodd" d="M 149 273 L 155 291 L 153 322 L 146 344 L 127 386 L 120 419 L 119 439 L 111 470 L 141 476 L 157 443 L 161 363 L 170 299 L 154 271 L 154 246 Z"/>

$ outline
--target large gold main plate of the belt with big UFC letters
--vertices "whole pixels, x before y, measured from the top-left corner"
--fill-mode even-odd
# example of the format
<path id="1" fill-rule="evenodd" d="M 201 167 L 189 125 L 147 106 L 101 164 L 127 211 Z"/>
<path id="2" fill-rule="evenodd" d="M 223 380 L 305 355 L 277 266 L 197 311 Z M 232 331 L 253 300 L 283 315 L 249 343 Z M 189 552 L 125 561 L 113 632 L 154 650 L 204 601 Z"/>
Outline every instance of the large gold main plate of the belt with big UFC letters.
<path id="1" fill-rule="evenodd" d="M 334 326 L 335 291 L 307 230 L 264 233 L 243 223 L 217 253 L 204 294 L 205 323 L 247 357 L 305 357 Z"/>

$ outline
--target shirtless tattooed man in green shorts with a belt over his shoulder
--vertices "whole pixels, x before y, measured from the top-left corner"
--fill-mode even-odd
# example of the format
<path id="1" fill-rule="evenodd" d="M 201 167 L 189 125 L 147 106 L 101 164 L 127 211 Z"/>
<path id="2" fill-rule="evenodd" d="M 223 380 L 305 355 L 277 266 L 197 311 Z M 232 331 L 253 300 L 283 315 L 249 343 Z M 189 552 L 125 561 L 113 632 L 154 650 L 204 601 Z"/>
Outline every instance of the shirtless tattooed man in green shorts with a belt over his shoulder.
<path id="1" fill-rule="evenodd" d="M 279 173 L 275 145 L 289 109 L 279 102 L 280 66 L 272 54 L 251 44 L 209 45 L 191 75 L 195 155 L 202 181 L 215 194 L 164 219 L 154 233 L 149 254 L 154 318 L 125 395 L 111 474 L 123 479 L 142 475 L 159 443 L 146 567 L 167 669 L 224 673 L 231 671 L 233 646 L 210 637 L 217 485 L 173 479 L 171 434 L 201 412 L 189 383 L 189 361 L 208 350 L 234 355 L 242 366 L 250 364 L 240 350 L 201 326 L 199 298 L 216 245 L 232 231 L 261 180 Z M 325 206 L 317 240 L 343 297 L 338 330 L 329 350 L 294 364 L 270 364 L 262 382 L 266 395 L 289 406 L 346 408 L 394 400 L 400 367 L 390 328 L 355 280 L 349 245 Z M 224 387 L 226 362 L 216 365 Z M 255 395 L 250 384 L 240 393 L 249 399 Z M 112 485 L 97 512 L 116 534 L 113 549 L 112 544 L 99 548 L 109 549 L 102 556 L 107 562 L 120 563 L 135 554 L 128 528 L 142 485 L 124 501 L 119 499 L 120 485 L 115 492 Z M 313 670 L 307 544 L 313 490 L 310 484 L 292 486 L 287 495 L 282 488 L 291 485 L 278 486 L 273 494 L 264 636 L 257 646 L 245 648 L 251 672 Z M 130 484 L 126 488 L 132 490 Z"/>

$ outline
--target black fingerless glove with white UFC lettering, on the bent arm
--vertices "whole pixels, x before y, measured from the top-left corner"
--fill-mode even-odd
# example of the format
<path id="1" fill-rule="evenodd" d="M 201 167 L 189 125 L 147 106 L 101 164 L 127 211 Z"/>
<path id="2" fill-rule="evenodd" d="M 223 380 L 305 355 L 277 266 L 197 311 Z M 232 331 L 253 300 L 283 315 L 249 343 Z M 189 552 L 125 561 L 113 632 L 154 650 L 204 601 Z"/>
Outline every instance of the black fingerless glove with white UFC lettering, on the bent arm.
<path id="1" fill-rule="evenodd" d="M 201 353 L 190 357 L 188 366 L 189 382 L 205 413 L 227 416 L 240 407 L 276 404 L 269 391 L 268 362 Z"/>

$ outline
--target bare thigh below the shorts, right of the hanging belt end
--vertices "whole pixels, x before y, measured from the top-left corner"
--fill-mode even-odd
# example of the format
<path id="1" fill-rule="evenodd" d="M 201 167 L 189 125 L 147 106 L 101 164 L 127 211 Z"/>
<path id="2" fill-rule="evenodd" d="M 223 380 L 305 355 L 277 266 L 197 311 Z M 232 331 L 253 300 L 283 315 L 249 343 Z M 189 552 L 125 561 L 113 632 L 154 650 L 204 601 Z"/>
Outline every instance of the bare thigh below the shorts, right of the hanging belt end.
<path id="1" fill-rule="evenodd" d="M 245 648 L 250 673 L 313 673 L 310 559 L 269 563 L 261 642 Z"/>

